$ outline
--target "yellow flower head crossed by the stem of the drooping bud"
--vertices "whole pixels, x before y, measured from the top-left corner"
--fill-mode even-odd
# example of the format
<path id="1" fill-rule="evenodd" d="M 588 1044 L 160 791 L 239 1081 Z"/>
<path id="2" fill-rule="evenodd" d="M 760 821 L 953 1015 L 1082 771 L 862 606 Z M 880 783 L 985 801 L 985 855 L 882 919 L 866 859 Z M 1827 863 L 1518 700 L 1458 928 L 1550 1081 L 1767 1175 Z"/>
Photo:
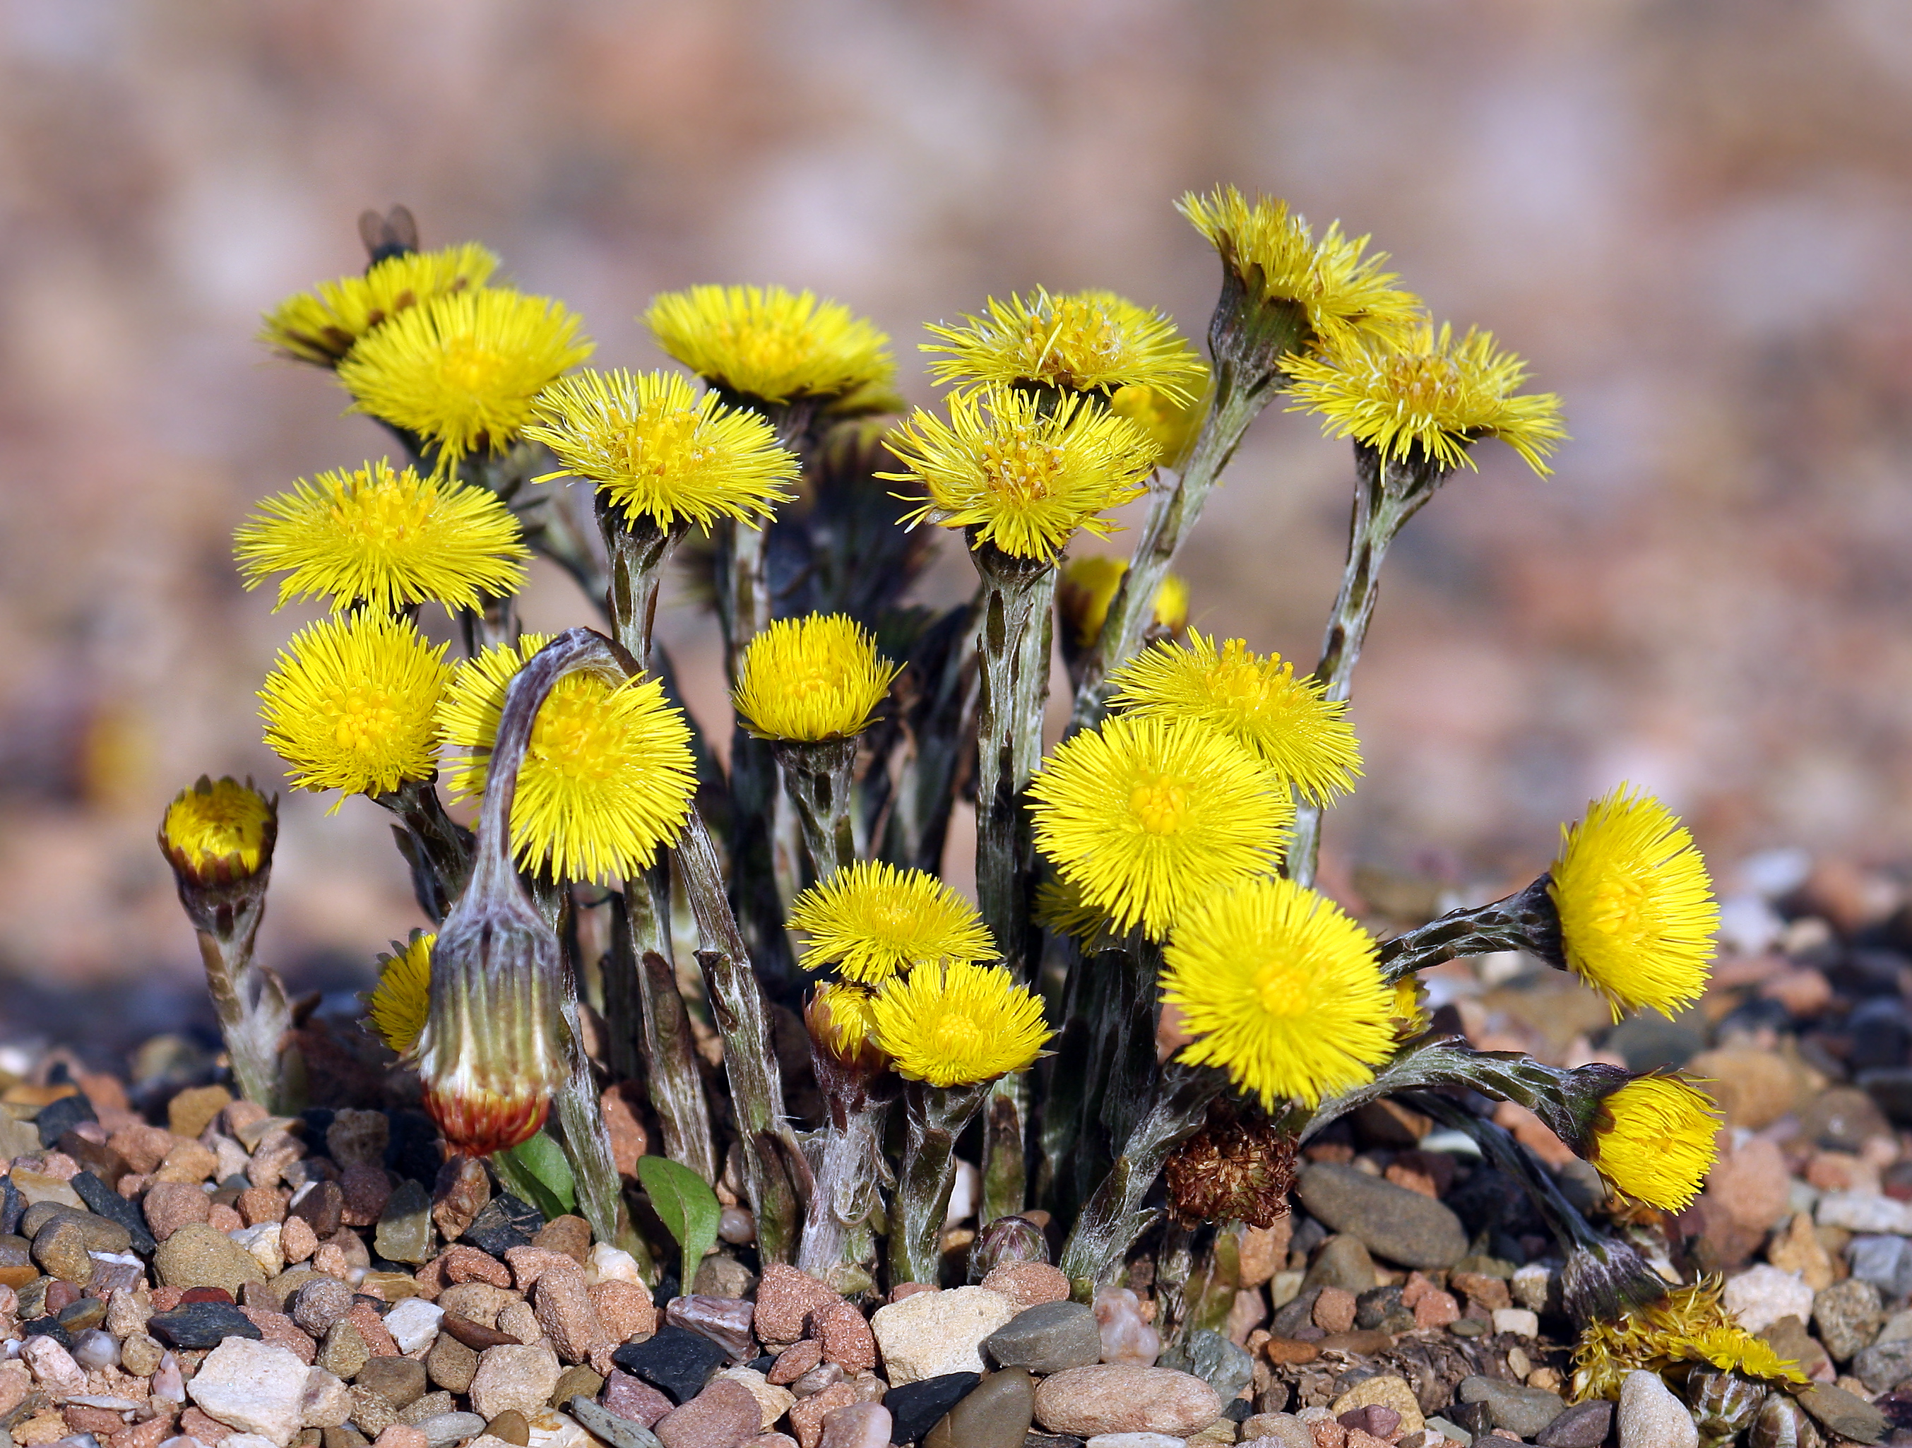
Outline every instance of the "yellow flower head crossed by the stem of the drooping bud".
<path id="1" fill-rule="evenodd" d="M 528 633 L 459 666 L 440 710 L 444 742 L 465 756 L 451 773 L 455 796 L 484 794 L 505 692 L 547 643 Z M 683 830 L 694 790 L 690 729 L 658 679 L 566 675 L 537 710 L 518 769 L 512 853 L 558 880 L 635 876 Z"/>

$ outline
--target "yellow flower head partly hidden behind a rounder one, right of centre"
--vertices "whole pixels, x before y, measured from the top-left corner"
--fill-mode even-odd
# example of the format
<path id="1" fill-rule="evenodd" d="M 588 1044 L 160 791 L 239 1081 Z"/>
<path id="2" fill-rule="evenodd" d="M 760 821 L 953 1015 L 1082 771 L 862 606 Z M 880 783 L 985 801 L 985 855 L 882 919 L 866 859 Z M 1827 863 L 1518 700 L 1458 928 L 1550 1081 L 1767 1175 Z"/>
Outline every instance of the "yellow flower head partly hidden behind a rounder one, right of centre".
<path id="1" fill-rule="evenodd" d="M 1220 648 L 1189 633 L 1185 645 L 1145 648 L 1111 679 L 1122 713 L 1201 719 L 1237 738 L 1314 803 L 1327 803 L 1361 777 L 1361 746 L 1348 706 L 1329 702 L 1314 679 L 1296 679 L 1281 654 L 1256 654 L 1243 639 Z"/>

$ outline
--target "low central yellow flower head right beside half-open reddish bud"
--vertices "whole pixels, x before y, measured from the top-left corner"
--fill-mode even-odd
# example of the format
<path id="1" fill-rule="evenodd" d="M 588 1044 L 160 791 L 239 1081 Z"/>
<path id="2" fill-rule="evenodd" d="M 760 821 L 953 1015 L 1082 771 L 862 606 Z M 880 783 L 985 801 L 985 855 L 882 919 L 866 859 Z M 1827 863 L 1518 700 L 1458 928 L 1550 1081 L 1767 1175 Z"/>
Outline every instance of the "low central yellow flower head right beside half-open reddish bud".
<path id="1" fill-rule="evenodd" d="M 923 966 L 895 979 L 870 1002 L 876 1044 L 897 1073 L 931 1086 L 967 1086 L 1023 1071 L 1050 1029 L 1042 998 L 1002 966 L 964 960 Z"/>

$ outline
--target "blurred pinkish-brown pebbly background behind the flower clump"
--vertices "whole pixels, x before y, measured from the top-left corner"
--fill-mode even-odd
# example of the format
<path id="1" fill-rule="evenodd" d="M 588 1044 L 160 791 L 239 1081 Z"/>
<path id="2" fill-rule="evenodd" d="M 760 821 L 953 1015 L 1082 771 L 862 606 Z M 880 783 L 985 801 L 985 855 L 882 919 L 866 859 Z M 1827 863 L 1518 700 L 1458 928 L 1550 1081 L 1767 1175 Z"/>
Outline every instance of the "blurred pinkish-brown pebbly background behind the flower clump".
<path id="1" fill-rule="evenodd" d="M 0 1033 L 203 1012 L 153 845 L 279 777 L 250 691 L 306 614 L 231 528 L 382 453 L 260 310 L 363 266 L 363 207 L 482 239 L 658 365 L 644 300 L 815 287 L 916 342 L 1111 287 L 1201 337 L 1176 216 L 1231 180 L 1394 252 L 1566 402 L 1407 530 L 1327 880 L 1488 899 L 1631 779 L 1727 891 L 1912 861 L 1912 13 L 1904 0 L 0 0 Z M 1346 444 L 1270 411 L 1184 557 L 1195 620 L 1308 668 Z M 1126 547 L 1119 536 L 1115 547 Z M 945 545 L 937 597 L 967 587 Z M 587 622 L 539 574 L 533 624 Z M 663 637 L 721 708 L 711 631 Z M 363 985 L 421 924 L 379 809 L 285 800 L 264 949 Z"/>

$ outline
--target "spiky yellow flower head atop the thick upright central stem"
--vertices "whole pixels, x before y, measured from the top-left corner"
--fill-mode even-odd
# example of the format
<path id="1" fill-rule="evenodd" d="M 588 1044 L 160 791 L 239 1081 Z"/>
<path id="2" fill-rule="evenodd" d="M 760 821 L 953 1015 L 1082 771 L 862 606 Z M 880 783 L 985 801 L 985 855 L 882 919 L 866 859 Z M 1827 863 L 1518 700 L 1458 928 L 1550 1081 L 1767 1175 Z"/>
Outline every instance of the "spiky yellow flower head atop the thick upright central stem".
<path id="1" fill-rule="evenodd" d="M 878 476 L 929 494 L 908 522 L 975 528 L 1019 559 L 1054 560 L 1076 528 L 1107 538 L 1103 509 L 1136 497 L 1155 467 L 1149 434 L 1082 394 L 1044 409 L 1027 392 L 979 388 L 948 407 L 948 423 L 918 407 L 885 444 L 908 472 Z"/>

